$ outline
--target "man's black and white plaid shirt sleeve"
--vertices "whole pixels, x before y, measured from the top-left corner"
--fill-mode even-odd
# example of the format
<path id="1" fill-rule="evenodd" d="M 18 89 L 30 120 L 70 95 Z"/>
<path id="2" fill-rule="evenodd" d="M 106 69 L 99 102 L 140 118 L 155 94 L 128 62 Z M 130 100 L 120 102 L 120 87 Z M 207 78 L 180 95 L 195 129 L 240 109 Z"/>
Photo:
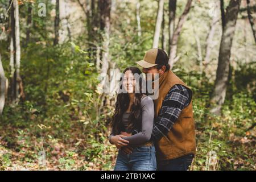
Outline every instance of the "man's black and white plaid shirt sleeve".
<path id="1" fill-rule="evenodd" d="M 184 107 L 188 106 L 192 96 L 183 85 L 174 85 L 164 98 L 159 115 L 154 123 L 152 136 L 154 140 L 168 134 Z"/>

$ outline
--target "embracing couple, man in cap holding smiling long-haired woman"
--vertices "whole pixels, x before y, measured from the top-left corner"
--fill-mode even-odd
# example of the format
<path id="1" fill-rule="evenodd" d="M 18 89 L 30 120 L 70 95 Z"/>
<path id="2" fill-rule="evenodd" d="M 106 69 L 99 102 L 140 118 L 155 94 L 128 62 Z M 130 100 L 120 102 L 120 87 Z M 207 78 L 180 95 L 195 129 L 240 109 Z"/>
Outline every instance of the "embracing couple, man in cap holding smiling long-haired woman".
<path id="1" fill-rule="evenodd" d="M 141 90 L 137 67 L 123 71 L 109 142 L 119 149 L 115 171 L 183 171 L 196 152 L 192 90 L 171 70 L 162 49 L 150 49 L 137 64 L 146 79 L 158 81 L 158 97 Z M 151 74 L 150 74 L 151 73 Z M 147 76 L 151 75 L 151 77 Z M 157 75 L 157 77 L 156 77 Z"/>

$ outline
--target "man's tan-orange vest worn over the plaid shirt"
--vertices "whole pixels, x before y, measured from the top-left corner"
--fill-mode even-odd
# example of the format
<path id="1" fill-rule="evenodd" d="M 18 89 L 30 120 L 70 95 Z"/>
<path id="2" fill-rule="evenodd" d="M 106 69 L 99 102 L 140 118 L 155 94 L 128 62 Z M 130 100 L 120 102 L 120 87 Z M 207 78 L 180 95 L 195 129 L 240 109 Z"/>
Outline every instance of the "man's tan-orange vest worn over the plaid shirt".
<path id="1" fill-rule="evenodd" d="M 154 100 L 155 117 L 158 116 L 163 100 L 172 86 L 180 84 L 189 88 L 172 71 L 165 72 L 159 78 L 159 96 Z M 192 100 L 185 107 L 166 137 L 155 142 L 158 160 L 175 159 L 196 153 L 195 122 L 193 119 Z"/>

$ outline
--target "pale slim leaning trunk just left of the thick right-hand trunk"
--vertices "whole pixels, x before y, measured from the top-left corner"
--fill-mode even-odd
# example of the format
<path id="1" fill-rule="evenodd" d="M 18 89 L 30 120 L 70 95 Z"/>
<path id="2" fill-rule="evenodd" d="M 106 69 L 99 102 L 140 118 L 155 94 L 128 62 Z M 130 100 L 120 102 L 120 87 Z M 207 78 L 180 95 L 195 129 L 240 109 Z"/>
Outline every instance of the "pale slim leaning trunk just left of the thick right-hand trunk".
<path id="1" fill-rule="evenodd" d="M 216 9 L 220 9 L 220 2 L 218 1 L 215 1 L 215 6 L 216 6 Z M 205 57 L 204 57 L 204 64 L 205 64 L 205 67 L 209 64 L 210 62 L 210 53 L 212 53 L 212 48 L 213 48 L 213 37 L 214 37 L 214 33 L 215 33 L 215 30 L 218 26 L 218 16 L 219 14 L 213 14 L 213 17 L 212 17 L 212 22 L 210 23 L 210 31 L 209 31 L 209 34 L 207 36 L 207 46 L 205 48 Z"/>

